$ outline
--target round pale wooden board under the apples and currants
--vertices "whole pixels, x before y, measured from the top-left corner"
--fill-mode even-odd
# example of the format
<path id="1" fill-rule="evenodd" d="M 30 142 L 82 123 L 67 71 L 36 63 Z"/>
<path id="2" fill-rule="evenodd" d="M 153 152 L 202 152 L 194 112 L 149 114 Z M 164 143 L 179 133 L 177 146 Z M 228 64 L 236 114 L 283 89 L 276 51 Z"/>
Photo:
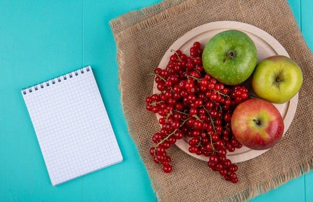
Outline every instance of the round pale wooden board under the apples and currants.
<path id="1" fill-rule="evenodd" d="M 239 30 L 247 34 L 252 41 L 254 42 L 256 49 L 258 60 L 260 62 L 264 58 L 272 55 L 283 55 L 289 57 L 286 50 L 279 44 L 277 40 L 275 40 L 272 36 L 270 36 L 265 31 L 254 27 L 249 24 L 240 23 L 240 22 L 233 22 L 233 21 L 219 21 L 219 22 L 212 22 L 208 24 L 201 25 L 196 27 L 183 36 L 181 36 L 178 40 L 176 40 L 169 49 L 165 52 L 163 58 L 159 63 L 159 68 L 164 69 L 169 61 L 169 57 L 172 55 L 170 50 L 181 50 L 182 53 L 186 55 L 189 54 L 189 49 L 192 47 L 193 43 L 198 41 L 201 44 L 201 47 L 204 48 L 206 43 L 217 33 L 220 33 L 225 30 Z M 249 88 L 249 95 L 255 96 L 251 85 L 250 85 L 250 78 L 244 82 L 244 85 Z M 156 88 L 156 83 L 153 84 L 153 93 L 160 93 Z M 295 114 L 296 106 L 298 102 L 298 94 L 296 94 L 290 101 L 284 104 L 274 104 L 274 106 L 279 110 L 283 121 L 284 121 L 284 131 L 283 134 L 286 132 L 288 127 L 291 124 L 293 116 Z M 159 119 L 160 116 L 157 115 Z M 180 140 L 176 141 L 176 146 L 178 146 L 182 151 L 186 152 L 187 154 L 204 160 L 208 161 L 208 157 L 204 155 L 196 155 L 195 153 L 190 153 L 188 151 L 188 137 L 184 137 Z M 268 150 L 268 149 L 267 149 Z M 261 155 L 262 153 L 266 152 L 267 150 L 252 150 L 242 146 L 240 149 L 236 149 L 234 152 L 227 152 L 227 157 L 231 160 L 231 162 L 242 162 L 245 160 L 252 159 L 256 156 Z"/>

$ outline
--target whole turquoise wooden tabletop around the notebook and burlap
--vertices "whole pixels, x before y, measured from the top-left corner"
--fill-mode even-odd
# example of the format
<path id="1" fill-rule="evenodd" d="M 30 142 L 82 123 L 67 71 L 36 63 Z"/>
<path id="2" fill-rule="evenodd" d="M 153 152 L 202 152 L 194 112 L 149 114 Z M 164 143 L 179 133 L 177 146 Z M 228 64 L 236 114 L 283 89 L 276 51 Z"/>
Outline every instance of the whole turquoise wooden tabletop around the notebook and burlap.
<path id="1" fill-rule="evenodd" d="M 123 117 L 108 21 L 158 2 L 0 0 L 0 201 L 156 201 Z M 313 50 L 313 3 L 288 3 Z M 93 68 L 124 160 L 51 186 L 20 90 L 84 65 Z M 312 192 L 311 171 L 251 201 L 313 201 Z"/>

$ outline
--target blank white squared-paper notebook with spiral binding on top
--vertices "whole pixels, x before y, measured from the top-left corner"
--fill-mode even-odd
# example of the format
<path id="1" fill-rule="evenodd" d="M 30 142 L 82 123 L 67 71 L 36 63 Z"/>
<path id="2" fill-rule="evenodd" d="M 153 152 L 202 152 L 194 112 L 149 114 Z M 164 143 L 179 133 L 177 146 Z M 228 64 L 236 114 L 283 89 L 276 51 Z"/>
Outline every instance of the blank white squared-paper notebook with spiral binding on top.
<path id="1" fill-rule="evenodd" d="M 90 66 L 21 94 L 53 186 L 123 160 Z"/>

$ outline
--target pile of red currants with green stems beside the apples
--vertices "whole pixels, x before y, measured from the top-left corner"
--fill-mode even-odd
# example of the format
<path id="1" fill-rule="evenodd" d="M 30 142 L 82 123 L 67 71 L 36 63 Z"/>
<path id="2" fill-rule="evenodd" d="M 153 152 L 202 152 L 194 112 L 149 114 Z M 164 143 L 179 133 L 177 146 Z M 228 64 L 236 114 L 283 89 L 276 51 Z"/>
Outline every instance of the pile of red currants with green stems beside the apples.
<path id="1" fill-rule="evenodd" d="M 238 167 L 226 153 L 242 145 L 231 132 L 230 119 L 235 107 L 248 99 L 248 90 L 240 85 L 226 86 L 206 74 L 202 51 L 199 42 L 190 48 L 189 56 L 172 51 L 166 68 L 154 70 L 159 93 L 145 99 L 146 110 L 160 116 L 161 129 L 152 136 L 155 146 L 149 153 L 168 173 L 172 166 L 166 149 L 185 137 L 189 152 L 207 156 L 208 167 L 235 183 Z"/>

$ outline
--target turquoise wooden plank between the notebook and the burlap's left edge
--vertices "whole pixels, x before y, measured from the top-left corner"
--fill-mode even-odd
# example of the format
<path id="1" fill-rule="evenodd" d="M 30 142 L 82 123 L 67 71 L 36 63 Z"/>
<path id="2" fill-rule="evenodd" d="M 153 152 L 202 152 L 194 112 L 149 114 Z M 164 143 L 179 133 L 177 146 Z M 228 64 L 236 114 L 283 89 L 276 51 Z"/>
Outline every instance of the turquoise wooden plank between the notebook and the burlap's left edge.
<path id="1" fill-rule="evenodd" d="M 83 62 L 91 65 L 107 107 L 123 162 L 83 176 L 84 201 L 155 201 L 146 168 L 131 140 L 120 104 L 116 45 L 108 22 L 154 4 L 146 1 L 84 1 Z M 117 6 L 118 5 L 118 6 Z"/>

